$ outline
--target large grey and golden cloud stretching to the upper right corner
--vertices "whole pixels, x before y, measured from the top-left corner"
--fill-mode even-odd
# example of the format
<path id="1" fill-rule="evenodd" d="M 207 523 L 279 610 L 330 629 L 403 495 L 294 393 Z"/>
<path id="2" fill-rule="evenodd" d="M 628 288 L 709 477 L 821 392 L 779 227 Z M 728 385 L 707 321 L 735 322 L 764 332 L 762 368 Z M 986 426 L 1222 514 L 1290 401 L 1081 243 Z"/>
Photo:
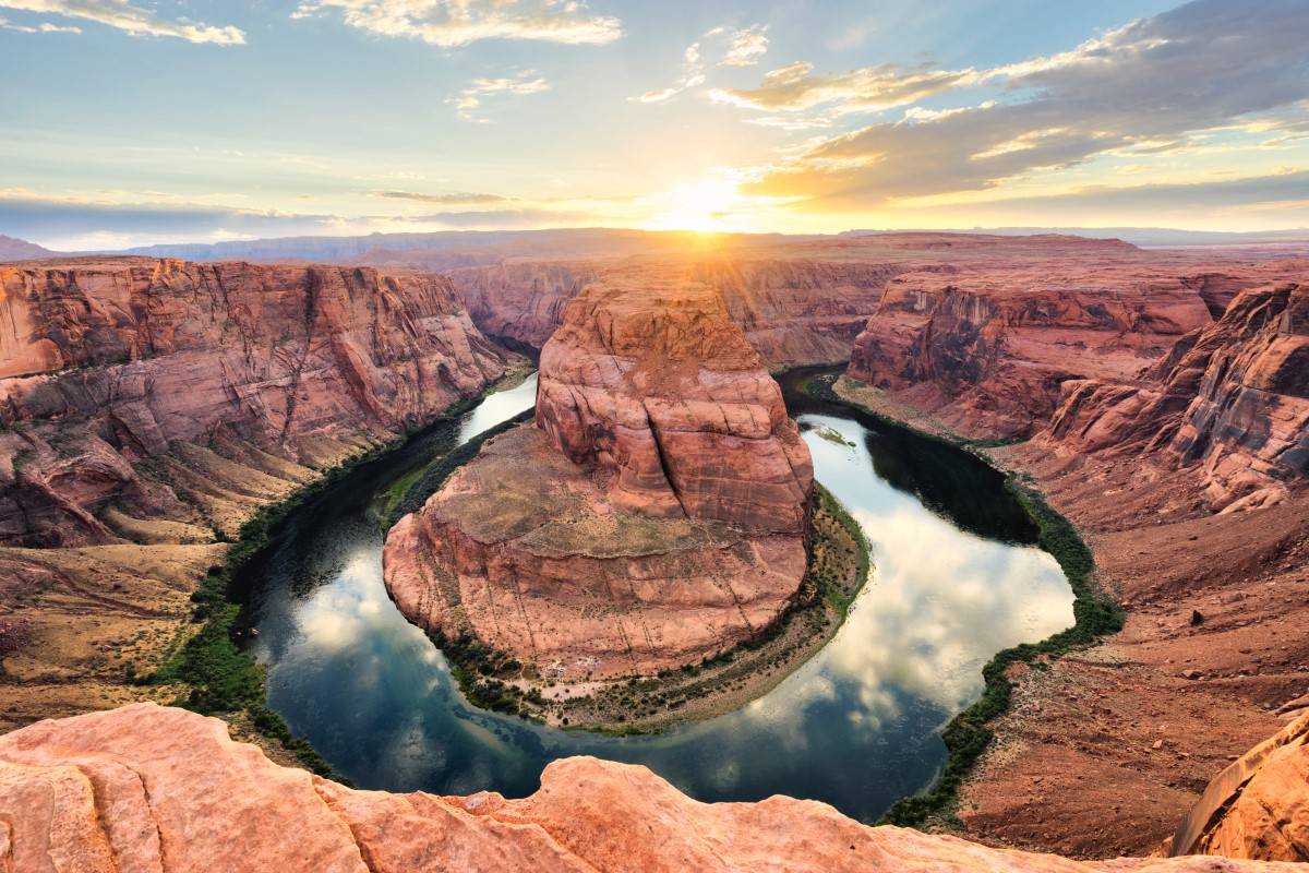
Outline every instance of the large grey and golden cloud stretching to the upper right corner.
<path id="1" fill-rule="evenodd" d="M 1304 0 L 1195 0 L 1071 51 L 988 71 L 882 65 L 821 76 L 798 63 L 758 89 L 716 97 L 771 115 L 817 106 L 842 114 L 978 84 L 1004 89 L 1003 101 L 914 109 L 826 139 L 747 188 L 814 208 L 867 209 L 983 191 L 1100 154 L 1168 152 L 1202 131 L 1293 113 L 1309 98 L 1306 41 Z M 1283 136 L 1300 132 L 1293 119 L 1263 123 Z"/>

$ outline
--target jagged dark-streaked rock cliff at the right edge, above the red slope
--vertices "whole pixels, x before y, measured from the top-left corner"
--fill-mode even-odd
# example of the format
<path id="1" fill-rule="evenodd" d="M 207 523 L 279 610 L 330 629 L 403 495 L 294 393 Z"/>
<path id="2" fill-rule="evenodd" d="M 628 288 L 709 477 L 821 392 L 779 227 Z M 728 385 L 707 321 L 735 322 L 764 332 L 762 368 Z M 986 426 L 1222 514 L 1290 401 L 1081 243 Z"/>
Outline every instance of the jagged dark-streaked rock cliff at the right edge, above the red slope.
<path id="1" fill-rule="evenodd" d="M 1212 509 L 1283 500 L 1309 474 L 1309 287 L 1241 293 L 1130 382 L 1069 382 L 1042 438 L 1195 467 Z"/>

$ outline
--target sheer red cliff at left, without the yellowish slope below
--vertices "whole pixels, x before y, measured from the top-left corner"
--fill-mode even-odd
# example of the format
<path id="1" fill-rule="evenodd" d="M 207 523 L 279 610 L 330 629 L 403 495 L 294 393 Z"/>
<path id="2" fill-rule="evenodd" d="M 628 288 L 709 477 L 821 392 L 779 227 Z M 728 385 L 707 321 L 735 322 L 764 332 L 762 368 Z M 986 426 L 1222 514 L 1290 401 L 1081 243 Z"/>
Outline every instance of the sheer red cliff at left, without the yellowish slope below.
<path id="1" fill-rule="evenodd" d="M 229 527 L 179 492 L 238 462 L 233 500 L 275 497 L 503 372 L 439 276 L 75 259 L 0 267 L 0 294 L 7 544 L 118 542 L 106 513 Z"/>

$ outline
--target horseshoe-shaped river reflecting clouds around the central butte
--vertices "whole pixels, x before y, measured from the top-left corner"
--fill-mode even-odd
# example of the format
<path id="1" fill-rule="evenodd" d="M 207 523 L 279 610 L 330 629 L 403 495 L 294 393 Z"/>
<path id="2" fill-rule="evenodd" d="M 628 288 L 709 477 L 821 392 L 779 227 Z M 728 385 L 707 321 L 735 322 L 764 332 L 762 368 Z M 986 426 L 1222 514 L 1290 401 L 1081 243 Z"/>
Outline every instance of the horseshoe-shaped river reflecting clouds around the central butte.
<path id="1" fill-rule="evenodd" d="M 804 398 L 797 378 L 784 387 L 817 476 L 863 525 L 876 568 L 836 637 L 766 696 L 652 737 L 542 728 L 470 707 L 391 605 L 370 516 L 378 492 L 530 407 L 530 380 L 360 469 L 249 567 L 270 705 L 363 788 L 524 796 L 551 759 L 590 754 L 647 764 L 700 800 L 784 793 L 874 819 L 932 781 L 945 760 L 939 730 L 980 694 L 983 664 L 1072 624 L 1072 594 L 995 471 Z"/>

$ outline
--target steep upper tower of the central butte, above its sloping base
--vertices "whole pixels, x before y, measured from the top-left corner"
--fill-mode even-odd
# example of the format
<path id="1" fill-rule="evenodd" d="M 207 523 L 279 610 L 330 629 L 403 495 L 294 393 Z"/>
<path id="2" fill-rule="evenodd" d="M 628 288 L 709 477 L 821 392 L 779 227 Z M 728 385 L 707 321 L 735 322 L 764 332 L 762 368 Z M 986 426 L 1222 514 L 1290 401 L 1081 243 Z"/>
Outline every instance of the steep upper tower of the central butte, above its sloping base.
<path id="1" fill-rule="evenodd" d="M 813 462 L 721 296 L 648 274 L 596 284 L 541 353 L 537 424 L 611 472 L 617 505 L 801 533 Z"/>

